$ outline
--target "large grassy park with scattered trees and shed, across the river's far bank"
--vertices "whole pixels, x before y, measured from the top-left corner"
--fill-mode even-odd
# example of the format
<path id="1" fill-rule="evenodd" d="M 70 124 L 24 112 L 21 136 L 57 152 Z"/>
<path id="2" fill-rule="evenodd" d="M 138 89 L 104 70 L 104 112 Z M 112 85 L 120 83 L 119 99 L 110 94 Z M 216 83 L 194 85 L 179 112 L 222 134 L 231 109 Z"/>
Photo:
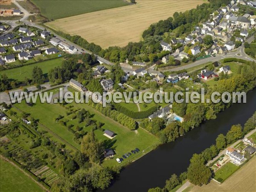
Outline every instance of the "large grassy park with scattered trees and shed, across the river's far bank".
<path id="1" fill-rule="evenodd" d="M 72 91 L 72 89 L 70 90 Z M 53 94 L 58 93 L 57 90 L 52 91 L 54 92 Z M 128 161 L 131 162 L 133 160 L 136 160 L 137 158 L 143 156 L 145 153 L 148 153 L 149 151 L 154 149 L 160 143 L 159 139 L 156 136 L 149 134 L 147 131 L 144 131 L 141 128 L 137 129 L 136 131 L 131 131 L 128 128 L 115 122 L 113 119 L 110 119 L 107 116 L 102 115 L 102 113 L 100 113 L 99 111 L 85 103 L 77 104 L 75 102 L 72 102 L 70 104 L 65 105 L 64 107 L 58 104 L 41 103 L 38 100 L 36 104 L 34 104 L 32 107 L 26 105 L 24 101 L 21 103 L 16 103 L 15 107 L 19 108 L 21 111 L 30 113 L 30 115 L 35 119 L 39 119 L 39 123 L 46 126 L 50 131 L 58 135 L 59 138 L 54 135 L 52 137 L 56 137 L 57 139 L 61 138 L 65 140 L 68 144 L 80 150 L 80 145 L 73 140 L 74 134 L 68 131 L 67 127 L 55 122 L 55 118 L 58 117 L 58 115 L 61 115 L 64 116 L 64 121 L 68 121 L 67 125 L 72 124 L 74 125 L 73 128 L 75 128 L 76 126 L 83 126 L 83 122 L 79 123 L 77 119 L 71 118 L 73 113 L 70 115 L 66 114 L 66 112 L 68 111 L 67 108 L 71 108 L 71 105 L 73 106 L 72 109 L 74 111 L 81 108 L 84 108 L 86 111 L 89 111 L 90 115 L 92 116 L 92 120 L 96 120 L 104 124 L 102 126 L 102 129 L 108 129 L 116 133 L 116 137 L 110 140 L 108 139 L 108 137 L 105 137 L 103 135 L 103 132 L 101 130 L 97 129 L 94 131 L 96 138 L 99 141 L 107 141 L 108 145 L 105 145 L 105 148 L 112 148 L 115 150 L 115 158 L 121 157 L 123 154 L 131 152 L 131 150 L 135 148 L 140 149 L 139 153 L 133 154 L 132 157 L 129 157 L 121 164 L 118 164 L 115 158 L 112 160 L 104 160 L 103 165 L 105 166 L 124 165 L 124 163 L 128 163 Z M 21 111 L 18 111 L 17 109 L 14 111 L 17 113 L 21 113 Z M 44 129 L 44 127 L 41 126 L 40 129 Z M 92 126 L 84 126 L 83 129 L 84 131 L 89 132 L 91 131 Z"/>

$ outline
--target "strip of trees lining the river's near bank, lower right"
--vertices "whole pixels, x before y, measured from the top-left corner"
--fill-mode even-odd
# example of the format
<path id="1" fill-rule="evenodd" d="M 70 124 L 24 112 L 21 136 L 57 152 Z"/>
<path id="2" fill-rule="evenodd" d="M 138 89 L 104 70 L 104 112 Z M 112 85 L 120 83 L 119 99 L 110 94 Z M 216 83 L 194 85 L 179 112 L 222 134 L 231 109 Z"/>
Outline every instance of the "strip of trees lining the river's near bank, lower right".
<path id="1" fill-rule="evenodd" d="M 209 180 L 215 175 L 209 168 L 210 166 L 212 166 L 212 163 L 210 163 L 209 166 L 207 166 L 206 163 L 216 157 L 218 153 L 226 148 L 228 145 L 230 145 L 231 143 L 235 143 L 237 140 L 243 138 L 244 135 L 255 129 L 255 127 L 256 112 L 247 120 L 247 122 L 244 124 L 244 127 L 242 127 L 241 125 L 233 125 L 226 135 L 218 135 L 214 145 L 206 148 L 200 154 L 193 154 L 192 158 L 190 159 L 190 164 L 187 168 L 187 172 L 181 173 L 179 177 L 173 174 L 169 180 L 166 180 L 166 185 L 163 189 L 157 187 L 149 189 L 148 192 L 171 191 L 186 179 L 188 179 L 192 184 L 198 186 L 209 183 Z M 225 179 L 230 175 L 227 175 Z M 218 176 L 218 174 L 216 176 Z"/>

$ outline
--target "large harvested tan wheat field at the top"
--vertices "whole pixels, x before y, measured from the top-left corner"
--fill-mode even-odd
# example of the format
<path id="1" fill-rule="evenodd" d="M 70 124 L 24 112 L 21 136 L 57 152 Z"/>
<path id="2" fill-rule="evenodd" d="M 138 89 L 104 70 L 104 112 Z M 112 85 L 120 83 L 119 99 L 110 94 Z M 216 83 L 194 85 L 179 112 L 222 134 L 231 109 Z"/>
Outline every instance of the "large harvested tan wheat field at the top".
<path id="1" fill-rule="evenodd" d="M 141 35 L 152 23 L 172 17 L 205 3 L 204 0 L 137 0 L 136 5 L 106 9 L 58 19 L 47 26 L 100 45 L 125 46 L 141 40 Z"/>

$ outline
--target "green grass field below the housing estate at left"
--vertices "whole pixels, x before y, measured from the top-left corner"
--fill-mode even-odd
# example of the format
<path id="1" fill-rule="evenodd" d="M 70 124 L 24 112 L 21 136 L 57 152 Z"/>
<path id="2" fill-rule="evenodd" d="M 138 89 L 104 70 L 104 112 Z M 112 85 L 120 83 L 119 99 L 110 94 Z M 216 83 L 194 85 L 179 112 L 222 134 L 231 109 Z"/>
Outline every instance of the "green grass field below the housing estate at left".
<path id="1" fill-rule="evenodd" d="M 9 79 L 17 79 L 19 81 L 23 81 L 26 78 L 31 79 L 32 77 L 32 70 L 35 66 L 41 67 L 43 70 L 43 74 L 46 75 L 48 71 L 54 67 L 60 66 L 62 63 L 61 58 L 43 61 L 36 64 L 30 64 L 23 67 L 18 67 L 14 69 L 4 70 L 1 71 L 1 75 L 6 74 Z"/>

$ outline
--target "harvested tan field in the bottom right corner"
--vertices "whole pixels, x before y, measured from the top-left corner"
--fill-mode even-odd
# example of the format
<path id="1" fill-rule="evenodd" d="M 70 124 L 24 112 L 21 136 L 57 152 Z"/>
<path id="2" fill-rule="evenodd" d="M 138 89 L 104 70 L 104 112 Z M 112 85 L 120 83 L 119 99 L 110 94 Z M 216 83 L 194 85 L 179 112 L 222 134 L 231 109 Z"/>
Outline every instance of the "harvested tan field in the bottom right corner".
<path id="1" fill-rule="evenodd" d="M 190 192 L 256 192 L 256 157 L 237 170 L 221 185 L 211 181 L 208 185 L 194 186 Z"/>

